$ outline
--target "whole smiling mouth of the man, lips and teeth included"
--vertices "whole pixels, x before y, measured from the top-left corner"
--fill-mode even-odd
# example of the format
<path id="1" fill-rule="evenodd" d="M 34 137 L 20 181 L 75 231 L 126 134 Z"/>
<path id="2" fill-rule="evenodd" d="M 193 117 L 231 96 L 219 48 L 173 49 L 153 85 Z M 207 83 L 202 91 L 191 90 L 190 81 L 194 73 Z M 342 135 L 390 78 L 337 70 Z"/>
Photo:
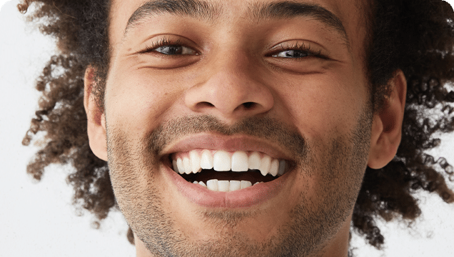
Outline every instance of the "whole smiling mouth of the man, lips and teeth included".
<path id="1" fill-rule="evenodd" d="M 287 191 L 292 181 L 288 178 L 294 176 L 288 153 L 248 136 L 191 136 L 166 151 L 166 176 L 181 195 L 199 206 L 264 203 Z"/>

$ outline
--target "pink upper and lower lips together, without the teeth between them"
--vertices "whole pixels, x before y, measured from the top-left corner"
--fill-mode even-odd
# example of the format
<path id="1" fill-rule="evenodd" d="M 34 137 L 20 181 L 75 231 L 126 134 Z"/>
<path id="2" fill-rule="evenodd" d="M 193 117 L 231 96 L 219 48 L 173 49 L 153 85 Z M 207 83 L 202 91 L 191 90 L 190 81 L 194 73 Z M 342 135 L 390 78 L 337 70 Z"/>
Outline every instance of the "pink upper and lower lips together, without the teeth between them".
<path id="1" fill-rule="evenodd" d="M 285 159 L 291 168 L 282 176 L 266 183 L 232 192 L 211 191 L 208 188 L 186 181 L 171 168 L 171 153 L 187 152 L 195 149 L 223 151 L 258 151 L 272 158 Z M 283 190 L 293 170 L 290 154 L 276 143 L 247 135 L 223 136 L 216 133 L 199 133 L 186 136 L 172 143 L 162 151 L 163 168 L 176 186 L 178 193 L 199 206 L 209 208 L 247 208 L 264 203 L 278 196 Z"/>

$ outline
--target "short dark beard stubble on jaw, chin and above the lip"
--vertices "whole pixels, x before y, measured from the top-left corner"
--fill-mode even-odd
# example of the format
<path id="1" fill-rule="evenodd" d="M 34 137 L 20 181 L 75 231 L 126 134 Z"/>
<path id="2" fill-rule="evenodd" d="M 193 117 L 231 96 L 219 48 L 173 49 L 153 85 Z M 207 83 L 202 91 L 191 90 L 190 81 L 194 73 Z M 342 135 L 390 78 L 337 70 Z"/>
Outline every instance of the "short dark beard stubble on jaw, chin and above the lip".
<path id="1" fill-rule="evenodd" d="M 184 117 L 162 124 L 136 142 L 107 122 L 109 173 L 118 206 L 153 256 L 317 256 L 353 210 L 367 163 L 371 116 L 370 111 L 363 111 L 348 135 L 331 138 L 323 155 L 317 155 L 317 147 L 296 129 L 270 118 L 254 117 L 226 126 L 213 116 Z M 301 191 L 298 204 L 288 213 L 289 220 L 265 243 L 235 231 L 241 221 L 256 215 L 253 211 L 213 210 L 198 214 L 204 222 L 228 229 L 219 238 L 191 242 L 175 228 L 153 174 L 159 163 L 156 156 L 168 143 L 206 131 L 278 142 L 293 153 L 301 176 L 320 181 L 314 189 L 316 197 Z"/>

